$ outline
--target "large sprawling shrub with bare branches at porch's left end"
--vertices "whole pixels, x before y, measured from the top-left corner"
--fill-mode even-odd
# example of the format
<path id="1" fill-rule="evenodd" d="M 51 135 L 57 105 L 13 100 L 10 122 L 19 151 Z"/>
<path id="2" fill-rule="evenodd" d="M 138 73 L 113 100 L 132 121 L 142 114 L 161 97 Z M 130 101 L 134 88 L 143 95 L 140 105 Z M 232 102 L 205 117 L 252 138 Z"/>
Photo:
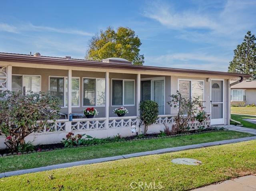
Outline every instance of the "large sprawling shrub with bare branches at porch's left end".
<path id="1" fill-rule="evenodd" d="M 8 148 L 16 151 L 26 136 L 49 127 L 48 120 L 55 121 L 60 116 L 58 105 L 58 98 L 50 93 L 0 93 L 0 134 L 6 136 Z"/>

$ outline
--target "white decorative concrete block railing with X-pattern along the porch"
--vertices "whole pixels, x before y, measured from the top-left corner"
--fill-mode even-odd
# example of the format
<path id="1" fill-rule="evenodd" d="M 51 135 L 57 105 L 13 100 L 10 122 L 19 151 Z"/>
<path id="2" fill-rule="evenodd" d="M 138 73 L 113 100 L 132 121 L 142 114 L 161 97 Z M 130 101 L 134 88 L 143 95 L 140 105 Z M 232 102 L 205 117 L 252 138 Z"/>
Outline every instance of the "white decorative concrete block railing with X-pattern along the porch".
<path id="1" fill-rule="evenodd" d="M 154 126 L 162 126 L 163 124 L 167 124 L 169 128 L 172 128 L 175 122 L 176 115 L 159 115 Z M 114 129 L 114 128 L 130 128 L 133 124 L 138 127 L 139 125 L 143 125 L 143 122 L 140 121 L 140 118 L 137 116 L 128 116 L 128 117 L 110 117 L 108 120 L 108 126 L 106 123 L 106 118 L 78 118 L 73 119 L 71 122 L 71 130 L 72 131 L 81 131 L 81 130 L 101 130 L 101 129 Z M 52 122 L 52 121 L 49 121 Z M 68 131 L 67 119 L 57 120 L 55 123 L 50 123 L 48 128 L 42 130 L 42 132 L 65 132 Z M 210 113 L 207 113 L 207 119 L 205 122 L 196 121 L 195 119 L 189 119 L 188 126 L 191 130 L 198 129 L 200 126 L 204 128 L 210 127 Z"/>

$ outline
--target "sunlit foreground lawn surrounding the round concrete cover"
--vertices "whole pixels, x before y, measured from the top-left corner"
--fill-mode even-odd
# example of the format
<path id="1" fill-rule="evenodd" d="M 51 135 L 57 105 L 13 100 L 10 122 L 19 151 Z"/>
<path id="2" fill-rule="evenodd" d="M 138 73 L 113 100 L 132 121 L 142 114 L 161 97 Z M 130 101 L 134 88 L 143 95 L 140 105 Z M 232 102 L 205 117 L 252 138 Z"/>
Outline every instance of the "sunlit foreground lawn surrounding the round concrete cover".
<path id="1" fill-rule="evenodd" d="M 2 178 L 0 190 L 128 191 L 138 182 L 184 191 L 256 173 L 256 140 L 195 150 L 121 159 L 66 169 Z M 179 165 L 174 158 L 194 158 L 202 165 Z"/>

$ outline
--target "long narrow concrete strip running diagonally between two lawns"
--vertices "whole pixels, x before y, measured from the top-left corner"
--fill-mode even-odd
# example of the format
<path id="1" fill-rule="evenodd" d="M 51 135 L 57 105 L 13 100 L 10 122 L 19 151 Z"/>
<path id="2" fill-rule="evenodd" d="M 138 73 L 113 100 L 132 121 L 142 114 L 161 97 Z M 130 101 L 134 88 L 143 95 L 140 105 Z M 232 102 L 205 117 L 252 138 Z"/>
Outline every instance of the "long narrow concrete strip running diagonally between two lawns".
<path id="1" fill-rule="evenodd" d="M 246 129 L 248 129 L 248 128 L 246 128 Z M 45 167 L 24 169 L 24 170 L 18 170 L 18 171 L 10 171 L 10 172 L 0 173 L 0 178 L 14 176 L 14 175 L 21 175 L 21 174 L 26 174 L 26 173 L 34 173 L 34 172 L 41 172 L 41 171 L 47 171 L 47 170 L 53 170 L 53 169 L 73 167 L 73 166 L 78 166 L 78 165 L 86 165 L 86 164 L 92 164 L 92 163 L 113 161 L 113 160 L 118 160 L 118 159 L 126 159 L 126 158 L 153 155 L 153 154 L 164 154 L 164 153 L 176 152 L 176 151 L 181 151 L 181 150 L 188 150 L 188 149 L 196 149 L 196 148 L 203 148 L 203 147 L 216 146 L 216 145 L 238 143 L 238 142 L 250 141 L 250 140 L 256 140 L 256 136 L 238 138 L 238 139 L 231 139 L 231 140 L 216 141 L 216 142 L 208 142 L 208 143 L 202 143 L 202 144 L 194 144 L 194 145 L 188 145 L 188 146 L 166 148 L 166 149 L 159 149 L 159 150 L 154 150 L 154 151 L 126 154 L 126 155 L 106 157 L 106 158 L 98 158 L 98 159 L 90 159 L 90 160 L 76 161 L 76 162 L 70 162 L 70 163 L 62 163 L 62 164 L 57 164 L 57 165 L 50 165 L 50 166 L 45 166 Z"/>

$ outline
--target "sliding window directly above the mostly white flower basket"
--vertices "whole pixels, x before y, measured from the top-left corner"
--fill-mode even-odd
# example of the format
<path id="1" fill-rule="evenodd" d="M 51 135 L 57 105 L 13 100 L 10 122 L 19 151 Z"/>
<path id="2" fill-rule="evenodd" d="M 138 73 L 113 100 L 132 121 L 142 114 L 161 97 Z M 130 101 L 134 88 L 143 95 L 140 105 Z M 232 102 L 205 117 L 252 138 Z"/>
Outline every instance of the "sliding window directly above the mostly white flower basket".
<path id="1" fill-rule="evenodd" d="M 134 80 L 112 80 L 112 105 L 134 105 Z"/>

